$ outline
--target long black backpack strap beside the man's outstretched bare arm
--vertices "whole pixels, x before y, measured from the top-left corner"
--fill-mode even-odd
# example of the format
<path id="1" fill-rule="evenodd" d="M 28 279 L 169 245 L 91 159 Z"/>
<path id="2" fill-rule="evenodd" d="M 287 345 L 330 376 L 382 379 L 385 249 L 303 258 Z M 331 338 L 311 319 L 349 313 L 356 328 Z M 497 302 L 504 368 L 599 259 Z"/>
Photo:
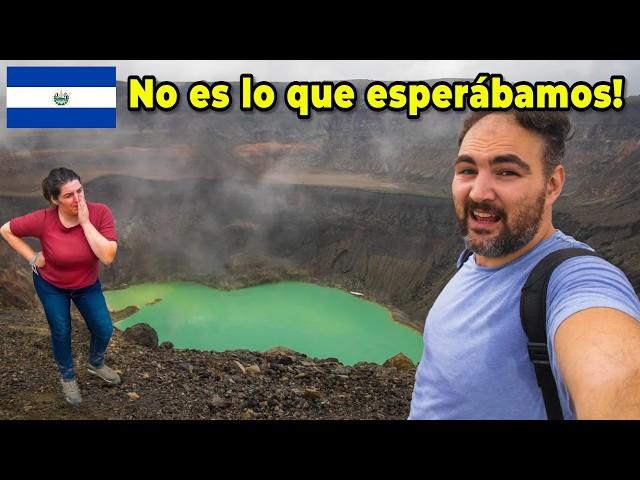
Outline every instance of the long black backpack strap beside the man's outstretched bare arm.
<path id="1" fill-rule="evenodd" d="M 568 258 L 582 255 L 600 256 L 584 248 L 565 248 L 550 253 L 533 268 L 520 295 L 522 328 L 529 337 L 529 358 L 536 370 L 549 420 L 562 420 L 563 415 L 547 349 L 547 287 L 551 274 L 558 265 Z"/>

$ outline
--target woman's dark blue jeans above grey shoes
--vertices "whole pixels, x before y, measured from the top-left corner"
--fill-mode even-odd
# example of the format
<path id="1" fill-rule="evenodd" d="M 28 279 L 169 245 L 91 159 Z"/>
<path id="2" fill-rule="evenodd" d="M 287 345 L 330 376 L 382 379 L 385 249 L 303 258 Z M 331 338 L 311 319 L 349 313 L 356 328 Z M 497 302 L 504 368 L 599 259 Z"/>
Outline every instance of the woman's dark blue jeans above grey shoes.
<path id="1" fill-rule="evenodd" d="M 102 367 L 113 333 L 113 325 L 102 294 L 100 280 L 96 280 L 96 283 L 88 287 L 67 290 L 51 285 L 34 273 L 33 284 L 47 316 L 51 330 L 53 356 L 62 378 L 73 380 L 76 376 L 71 351 L 71 300 L 78 307 L 91 332 L 89 363 L 94 367 Z"/>

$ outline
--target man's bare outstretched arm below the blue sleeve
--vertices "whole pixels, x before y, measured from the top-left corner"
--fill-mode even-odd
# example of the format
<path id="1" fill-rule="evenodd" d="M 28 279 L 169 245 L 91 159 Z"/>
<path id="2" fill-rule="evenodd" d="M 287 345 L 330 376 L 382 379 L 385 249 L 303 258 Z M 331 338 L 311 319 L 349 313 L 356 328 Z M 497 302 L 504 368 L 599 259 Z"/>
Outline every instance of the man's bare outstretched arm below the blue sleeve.
<path id="1" fill-rule="evenodd" d="M 580 419 L 640 419 L 640 322 L 589 308 L 558 328 L 558 365 Z"/>

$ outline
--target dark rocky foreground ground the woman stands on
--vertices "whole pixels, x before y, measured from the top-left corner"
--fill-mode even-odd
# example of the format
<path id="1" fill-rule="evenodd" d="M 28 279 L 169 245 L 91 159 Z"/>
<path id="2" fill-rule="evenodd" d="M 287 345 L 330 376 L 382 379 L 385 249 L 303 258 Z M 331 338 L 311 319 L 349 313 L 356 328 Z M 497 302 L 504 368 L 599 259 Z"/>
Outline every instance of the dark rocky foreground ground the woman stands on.
<path id="1" fill-rule="evenodd" d="M 150 347 L 115 330 L 112 387 L 87 373 L 88 333 L 74 316 L 79 407 L 62 396 L 46 321 L 34 311 L 0 312 L 0 419 L 404 419 L 415 367 L 312 359 L 286 349 L 199 352 Z M 128 332 L 128 331 L 127 331 Z"/>

